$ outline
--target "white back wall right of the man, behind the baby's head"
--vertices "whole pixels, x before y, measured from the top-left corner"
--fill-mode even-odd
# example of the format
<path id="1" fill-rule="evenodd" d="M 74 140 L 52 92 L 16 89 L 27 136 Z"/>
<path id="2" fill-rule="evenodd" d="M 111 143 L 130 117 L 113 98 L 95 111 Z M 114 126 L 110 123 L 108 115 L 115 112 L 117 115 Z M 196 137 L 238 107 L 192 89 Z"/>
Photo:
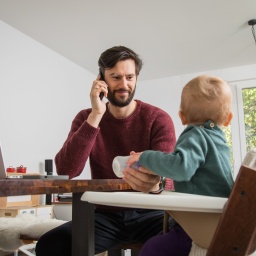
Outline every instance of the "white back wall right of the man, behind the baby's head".
<path id="1" fill-rule="evenodd" d="M 202 73 L 186 74 L 151 81 L 142 81 L 139 82 L 139 85 L 137 86 L 136 97 L 156 105 L 168 112 L 174 121 L 176 135 L 178 137 L 184 129 L 178 117 L 182 87 L 189 80 L 201 74 L 219 76 L 228 81 L 232 87 L 232 83 L 236 81 L 255 79 L 256 64 L 222 70 L 211 70 Z M 233 99 L 233 104 L 237 104 L 235 97 Z M 236 117 L 234 117 L 234 122 L 237 122 Z"/>

